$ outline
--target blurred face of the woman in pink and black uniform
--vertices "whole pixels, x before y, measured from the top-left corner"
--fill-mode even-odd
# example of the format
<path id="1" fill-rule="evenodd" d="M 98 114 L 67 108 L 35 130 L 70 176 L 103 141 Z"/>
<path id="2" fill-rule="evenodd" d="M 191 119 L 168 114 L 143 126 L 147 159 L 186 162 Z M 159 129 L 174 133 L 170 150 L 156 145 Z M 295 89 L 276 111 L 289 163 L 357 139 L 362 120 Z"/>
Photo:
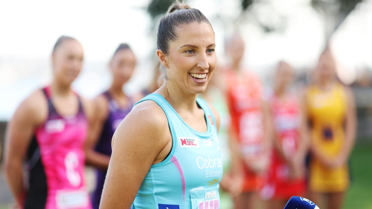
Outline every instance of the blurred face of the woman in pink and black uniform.
<path id="1" fill-rule="evenodd" d="M 71 85 L 81 71 L 83 58 L 83 47 L 78 41 L 63 41 L 52 54 L 55 79 L 64 85 Z"/>

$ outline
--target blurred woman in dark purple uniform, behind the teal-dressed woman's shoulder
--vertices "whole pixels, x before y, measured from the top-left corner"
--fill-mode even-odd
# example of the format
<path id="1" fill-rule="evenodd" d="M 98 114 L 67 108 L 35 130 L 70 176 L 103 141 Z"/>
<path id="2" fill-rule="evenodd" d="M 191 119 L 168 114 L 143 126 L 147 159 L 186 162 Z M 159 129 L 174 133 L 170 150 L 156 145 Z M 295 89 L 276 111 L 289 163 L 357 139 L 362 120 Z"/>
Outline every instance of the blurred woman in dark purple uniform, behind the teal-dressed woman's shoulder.
<path id="1" fill-rule="evenodd" d="M 99 208 L 103 184 L 111 156 L 111 139 L 116 128 L 138 99 L 124 93 L 123 86 L 131 78 L 136 58 L 128 44 L 120 44 L 109 63 L 112 83 L 108 90 L 94 99 L 95 118 L 86 143 L 86 162 L 97 167 L 93 208 Z"/>

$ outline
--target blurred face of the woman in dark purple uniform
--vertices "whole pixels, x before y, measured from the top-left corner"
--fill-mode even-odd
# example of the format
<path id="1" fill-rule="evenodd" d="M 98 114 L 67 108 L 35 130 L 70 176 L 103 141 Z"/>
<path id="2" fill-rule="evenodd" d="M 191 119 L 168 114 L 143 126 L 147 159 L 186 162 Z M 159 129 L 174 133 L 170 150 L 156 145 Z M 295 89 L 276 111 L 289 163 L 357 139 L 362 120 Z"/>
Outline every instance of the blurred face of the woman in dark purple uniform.
<path id="1" fill-rule="evenodd" d="M 110 70 L 115 83 L 124 84 L 132 76 L 136 66 L 136 58 L 130 49 L 121 49 L 112 58 Z"/>

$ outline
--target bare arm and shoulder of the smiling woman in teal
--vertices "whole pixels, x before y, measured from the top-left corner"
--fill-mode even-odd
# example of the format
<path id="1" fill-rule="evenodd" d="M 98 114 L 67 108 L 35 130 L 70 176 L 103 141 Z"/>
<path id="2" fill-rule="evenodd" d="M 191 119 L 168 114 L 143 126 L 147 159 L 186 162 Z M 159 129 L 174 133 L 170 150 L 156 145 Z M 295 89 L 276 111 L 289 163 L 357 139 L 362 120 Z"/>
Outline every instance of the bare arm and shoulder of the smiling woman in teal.
<path id="1" fill-rule="evenodd" d="M 151 165 L 166 157 L 171 142 L 168 121 L 161 107 L 153 101 L 136 105 L 112 138 L 112 155 L 100 208 L 129 208 Z"/>

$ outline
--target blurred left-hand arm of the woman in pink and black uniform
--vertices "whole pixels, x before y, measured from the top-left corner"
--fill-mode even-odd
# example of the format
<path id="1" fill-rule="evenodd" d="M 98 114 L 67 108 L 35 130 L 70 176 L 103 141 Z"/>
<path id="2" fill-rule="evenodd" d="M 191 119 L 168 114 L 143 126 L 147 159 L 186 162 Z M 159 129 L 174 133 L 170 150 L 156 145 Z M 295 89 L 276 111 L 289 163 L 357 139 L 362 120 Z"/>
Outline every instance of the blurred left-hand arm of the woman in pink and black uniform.
<path id="1" fill-rule="evenodd" d="M 46 111 L 40 111 L 45 107 L 41 92 L 35 92 L 23 101 L 17 108 L 6 131 L 6 147 L 4 167 L 8 186 L 13 197 L 23 206 L 25 188 L 23 185 L 23 160 L 34 129 L 46 117 Z M 44 102 L 44 103 L 43 103 Z"/>

